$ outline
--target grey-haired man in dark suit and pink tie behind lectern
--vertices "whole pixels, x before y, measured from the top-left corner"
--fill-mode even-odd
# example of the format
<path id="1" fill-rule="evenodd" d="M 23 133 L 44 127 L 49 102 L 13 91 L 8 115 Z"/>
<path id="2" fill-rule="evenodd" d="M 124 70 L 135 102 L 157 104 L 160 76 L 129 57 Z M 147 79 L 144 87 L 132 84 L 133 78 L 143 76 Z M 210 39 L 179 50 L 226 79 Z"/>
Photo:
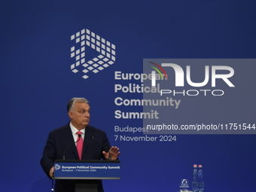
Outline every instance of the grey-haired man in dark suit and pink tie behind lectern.
<path id="1" fill-rule="evenodd" d="M 117 160 L 120 154 L 119 148 L 110 147 L 108 138 L 102 130 L 96 129 L 89 125 L 90 121 L 90 105 L 87 99 L 73 98 L 67 106 L 70 122 L 66 126 L 59 127 L 49 133 L 47 143 L 44 147 L 43 157 L 41 158 L 41 166 L 49 178 L 53 178 L 54 160 L 62 160 L 66 148 L 69 148 L 78 140 L 78 132 L 81 135 L 82 145 L 81 157 L 78 155 L 76 145 L 72 145 L 65 153 L 66 160 L 101 160 L 108 159 L 109 149 L 111 160 Z M 105 148 L 102 148 L 97 142 L 92 139 L 92 136 L 97 142 L 100 142 Z M 98 183 L 98 191 L 102 192 L 102 181 Z M 56 192 L 75 192 L 74 180 L 56 180 Z"/>

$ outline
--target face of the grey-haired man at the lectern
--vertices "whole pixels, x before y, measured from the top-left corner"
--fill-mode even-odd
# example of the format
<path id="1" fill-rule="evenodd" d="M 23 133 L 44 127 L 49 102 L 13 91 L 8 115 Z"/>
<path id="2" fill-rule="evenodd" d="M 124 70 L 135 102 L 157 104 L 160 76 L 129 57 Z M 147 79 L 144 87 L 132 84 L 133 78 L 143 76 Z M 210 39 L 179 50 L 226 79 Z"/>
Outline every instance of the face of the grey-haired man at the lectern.
<path id="1" fill-rule="evenodd" d="M 78 130 L 84 129 L 90 121 L 90 106 L 86 102 L 75 102 L 73 110 L 69 111 L 71 123 Z"/>

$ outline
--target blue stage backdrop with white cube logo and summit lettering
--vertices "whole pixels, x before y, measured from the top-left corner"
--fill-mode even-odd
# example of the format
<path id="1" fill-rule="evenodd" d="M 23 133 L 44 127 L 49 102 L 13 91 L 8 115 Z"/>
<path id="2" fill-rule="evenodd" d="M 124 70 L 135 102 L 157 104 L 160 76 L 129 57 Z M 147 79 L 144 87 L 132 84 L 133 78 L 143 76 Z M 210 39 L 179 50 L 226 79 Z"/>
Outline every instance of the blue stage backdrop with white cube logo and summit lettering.
<path id="1" fill-rule="evenodd" d="M 0 190 L 50 190 L 40 166 L 47 135 L 69 123 L 69 99 L 85 97 L 90 124 L 121 151 L 121 179 L 103 181 L 105 191 L 175 192 L 181 178 L 191 182 L 194 163 L 203 165 L 208 192 L 253 191 L 254 10 L 251 0 L 2 1 Z M 172 67 L 163 66 L 166 81 L 152 62 L 180 66 L 184 87 L 175 85 Z M 187 66 L 197 84 L 207 72 L 207 84 L 191 86 Z M 234 87 L 223 78 L 213 87 L 212 66 L 228 66 L 215 74 L 230 74 Z M 139 105 L 149 96 L 142 90 L 152 89 L 152 80 L 139 76 L 159 75 L 156 69 L 163 75 L 156 84 L 172 93 L 150 99 L 164 98 L 168 107 Z M 195 90 L 199 95 L 189 96 Z M 147 110 L 149 123 L 137 116 Z M 147 125 L 163 123 L 232 127 L 227 134 L 147 132 Z"/>

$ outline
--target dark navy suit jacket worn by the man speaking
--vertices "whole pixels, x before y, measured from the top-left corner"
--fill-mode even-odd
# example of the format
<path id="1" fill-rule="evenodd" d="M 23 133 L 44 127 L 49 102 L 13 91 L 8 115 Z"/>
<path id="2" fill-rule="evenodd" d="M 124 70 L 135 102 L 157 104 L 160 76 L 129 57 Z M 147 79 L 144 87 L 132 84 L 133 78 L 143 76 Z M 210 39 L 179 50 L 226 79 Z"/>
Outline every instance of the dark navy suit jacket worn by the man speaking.
<path id="1" fill-rule="evenodd" d="M 91 136 L 94 136 L 96 141 L 100 142 L 106 148 L 110 148 L 108 138 L 102 130 L 96 129 L 88 125 L 85 130 L 84 148 L 82 153 L 82 160 L 101 160 L 105 159 L 102 151 L 106 151 L 102 146 L 96 143 Z M 59 127 L 49 133 L 46 145 L 44 147 L 43 157 L 41 158 L 41 166 L 44 172 L 50 177 L 50 169 L 54 166 L 54 160 L 62 160 L 66 148 L 74 143 L 72 130 L 69 123 L 66 126 Z M 66 151 L 66 160 L 79 160 L 76 145 L 72 145 Z M 98 181 L 99 191 L 103 191 L 102 181 Z M 74 180 L 56 180 L 56 192 L 75 192 Z"/>

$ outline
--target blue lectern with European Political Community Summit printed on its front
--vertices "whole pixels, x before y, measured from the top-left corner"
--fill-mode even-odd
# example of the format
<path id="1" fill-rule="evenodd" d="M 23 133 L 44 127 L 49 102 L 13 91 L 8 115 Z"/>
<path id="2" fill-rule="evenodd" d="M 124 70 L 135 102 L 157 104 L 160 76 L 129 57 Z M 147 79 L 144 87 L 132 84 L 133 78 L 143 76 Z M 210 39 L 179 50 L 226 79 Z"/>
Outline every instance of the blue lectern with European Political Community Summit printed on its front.
<path id="1" fill-rule="evenodd" d="M 120 179 L 120 160 L 55 160 L 55 179 L 75 179 L 75 192 L 98 192 L 99 179 Z"/>

